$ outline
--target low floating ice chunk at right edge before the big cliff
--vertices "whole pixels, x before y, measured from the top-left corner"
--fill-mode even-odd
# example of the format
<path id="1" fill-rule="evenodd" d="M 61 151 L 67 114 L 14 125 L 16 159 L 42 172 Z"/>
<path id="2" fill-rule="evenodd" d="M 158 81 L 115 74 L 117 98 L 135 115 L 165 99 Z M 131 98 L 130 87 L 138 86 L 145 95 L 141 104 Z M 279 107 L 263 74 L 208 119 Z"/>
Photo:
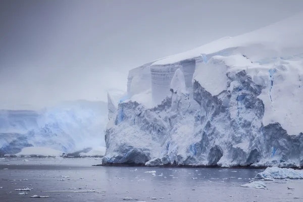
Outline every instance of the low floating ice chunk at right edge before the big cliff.
<path id="1" fill-rule="evenodd" d="M 303 170 L 291 168 L 268 167 L 265 171 L 258 173 L 256 179 L 303 179 Z"/>

